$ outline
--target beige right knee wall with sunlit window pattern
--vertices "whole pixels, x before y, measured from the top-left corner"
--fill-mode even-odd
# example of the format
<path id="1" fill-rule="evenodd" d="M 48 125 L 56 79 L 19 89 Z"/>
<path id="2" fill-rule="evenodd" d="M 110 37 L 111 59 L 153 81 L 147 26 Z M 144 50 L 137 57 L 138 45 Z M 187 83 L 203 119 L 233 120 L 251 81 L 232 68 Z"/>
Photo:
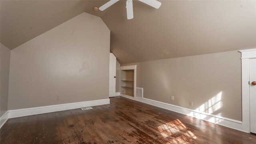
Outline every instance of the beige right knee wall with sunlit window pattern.
<path id="1" fill-rule="evenodd" d="M 137 64 L 144 98 L 241 121 L 240 57 L 229 51 L 125 65 Z"/>

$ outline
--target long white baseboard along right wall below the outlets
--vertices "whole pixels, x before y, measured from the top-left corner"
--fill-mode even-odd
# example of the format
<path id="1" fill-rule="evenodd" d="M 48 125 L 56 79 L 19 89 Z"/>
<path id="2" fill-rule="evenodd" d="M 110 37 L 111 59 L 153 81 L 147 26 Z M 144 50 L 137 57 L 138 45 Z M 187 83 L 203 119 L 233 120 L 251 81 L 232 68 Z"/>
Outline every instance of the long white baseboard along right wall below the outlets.
<path id="1" fill-rule="evenodd" d="M 121 94 L 121 96 L 123 96 L 125 98 L 130 98 L 132 100 L 136 100 L 136 101 L 139 101 L 139 102 L 143 102 L 143 103 L 146 103 L 146 104 L 150 104 L 152 106 L 157 106 L 159 108 L 164 108 L 166 110 L 171 110 L 171 111 L 174 111 L 174 112 L 178 112 L 180 114 L 185 114 L 187 116 L 192 116 L 194 118 L 199 118 L 201 120 L 205 120 L 205 121 L 208 121 L 208 122 L 212 122 L 214 124 L 218 124 L 218 125 L 221 125 L 221 126 L 232 128 L 234 130 L 239 130 L 239 131 L 242 131 L 242 132 L 250 133 L 248 131 L 243 130 L 242 121 L 238 121 L 238 120 L 234 120 L 234 119 L 230 119 L 230 118 L 225 118 L 225 117 L 222 117 L 222 116 L 217 116 L 217 115 L 214 115 L 214 114 L 208 114 L 208 113 L 205 113 L 205 112 L 199 112 L 197 110 L 192 110 L 192 109 L 184 108 L 184 107 L 181 107 L 181 106 L 175 106 L 175 105 L 172 105 L 172 104 L 159 102 L 159 101 L 151 100 L 151 99 L 148 99 L 148 98 L 138 98 L 138 97 L 126 96 L 124 94 Z"/>

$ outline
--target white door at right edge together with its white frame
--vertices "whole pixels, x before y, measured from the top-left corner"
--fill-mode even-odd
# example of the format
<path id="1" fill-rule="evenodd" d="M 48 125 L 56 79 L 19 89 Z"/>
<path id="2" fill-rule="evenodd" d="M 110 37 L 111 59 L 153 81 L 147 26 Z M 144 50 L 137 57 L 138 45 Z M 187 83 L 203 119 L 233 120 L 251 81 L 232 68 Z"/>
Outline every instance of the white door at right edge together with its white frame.
<path id="1" fill-rule="evenodd" d="M 240 50 L 242 56 L 242 130 L 256 132 L 256 81 L 253 74 L 256 73 L 256 48 Z M 249 82 L 249 83 L 248 83 Z"/>

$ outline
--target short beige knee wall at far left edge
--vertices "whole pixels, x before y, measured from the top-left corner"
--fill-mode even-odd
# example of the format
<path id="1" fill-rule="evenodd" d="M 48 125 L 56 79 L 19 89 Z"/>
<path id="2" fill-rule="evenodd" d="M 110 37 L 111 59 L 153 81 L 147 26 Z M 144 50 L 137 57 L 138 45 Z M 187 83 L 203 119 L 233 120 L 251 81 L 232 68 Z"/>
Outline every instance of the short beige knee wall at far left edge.
<path id="1" fill-rule="evenodd" d="M 8 110 L 8 88 L 11 50 L 0 44 L 0 117 Z"/>

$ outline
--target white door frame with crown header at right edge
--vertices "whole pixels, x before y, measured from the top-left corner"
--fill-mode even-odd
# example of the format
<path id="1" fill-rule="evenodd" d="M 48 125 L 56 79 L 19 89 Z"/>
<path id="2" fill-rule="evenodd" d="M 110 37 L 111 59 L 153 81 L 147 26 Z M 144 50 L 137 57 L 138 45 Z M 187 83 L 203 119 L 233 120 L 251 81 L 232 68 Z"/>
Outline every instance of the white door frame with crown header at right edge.
<path id="1" fill-rule="evenodd" d="M 239 50 L 242 60 L 242 130 L 250 133 L 250 85 L 249 60 L 256 58 L 256 48 Z"/>

